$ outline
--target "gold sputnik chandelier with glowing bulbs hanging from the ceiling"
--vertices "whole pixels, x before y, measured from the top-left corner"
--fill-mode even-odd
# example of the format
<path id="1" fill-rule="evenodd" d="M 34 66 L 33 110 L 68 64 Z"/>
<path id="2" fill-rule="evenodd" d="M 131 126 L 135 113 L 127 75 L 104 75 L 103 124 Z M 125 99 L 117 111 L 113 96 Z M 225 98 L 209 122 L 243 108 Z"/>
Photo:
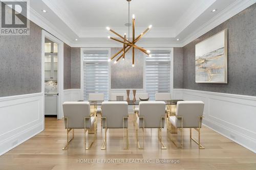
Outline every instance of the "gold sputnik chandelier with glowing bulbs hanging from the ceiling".
<path id="1" fill-rule="evenodd" d="M 129 3 L 129 10 L 128 10 L 129 14 L 128 14 L 128 16 L 130 18 L 130 2 L 132 0 L 126 0 L 126 1 Z M 133 67 L 134 67 L 135 48 L 137 48 L 141 52 L 145 53 L 147 56 L 151 57 L 149 50 L 145 50 L 144 48 L 135 45 L 135 43 L 138 42 L 140 40 L 140 38 L 142 38 L 142 36 L 148 30 L 150 30 L 152 28 L 152 25 L 148 26 L 148 28 L 143 33 L 141 33 L 139 36 L 137 36 L 135 38 L 135 15 L 133 15 L 133 20 L 132 21 L 133 21 L 133 38 L 132 38 L 132 41 L 130 41 L 130 19 L 129 19 L 129 22 L 128 22 L 128 26 L 129 26 L 129 37 L 128 38 L 126 37 L 125 33 L 124 33 L 124 36 L 121 36 L 120 34 L 116 33 L 114 30 L 112 30 L 111 28 L 106 27 L 107 30 L 109 30 L 110 32 L 114 33 L 115 35 L 117 35 L 118 37 L 121 38 L 121 39 L 118 39 L 118 38 L 108 36 L 109 39 L 113 39 L 115 41 L 123 43 L 123 48 L 120 51 L 118 51 L 114 56 L 112 56 L 111 59 L 108 60 L 109 62 L 111 60 L 113 60 L 116 56 L 118 56 L 120 53 L 122 53 L 122 54 L 117 58 L 117 60 L 114 63 L 116 64 L 121 58 L 124 60 L 125 53 L 127 53 L 131 48 L 133 49 L 133 55 L 132 55 L 133 56 L 133 64 L 132 64 Z"/>

